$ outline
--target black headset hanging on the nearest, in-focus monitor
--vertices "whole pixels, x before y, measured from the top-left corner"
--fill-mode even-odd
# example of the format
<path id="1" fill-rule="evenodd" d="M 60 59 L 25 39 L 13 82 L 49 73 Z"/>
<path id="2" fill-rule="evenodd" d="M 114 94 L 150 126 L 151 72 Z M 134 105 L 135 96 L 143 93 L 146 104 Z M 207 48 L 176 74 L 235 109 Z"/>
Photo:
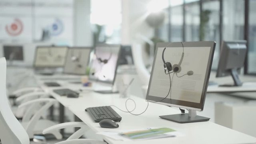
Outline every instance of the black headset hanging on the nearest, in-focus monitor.
<path id="1" fill-rule="evenodd" d="M 173 72 L 177 74 L 181 71 L 181 66 L 180 65 L 182 64 L 182 61 L 183 61 L 183 58 L 184 58 L 183 42 L 181 42 L 181 44 L 182 44 L 183 51 L 182 51 L 182 55 L 181 55 L 181 58 L 180 58 L 180 62 L 178 64 L 174 64 L 174 65 L 172 65 L 170 62 L 165 62 L 165 60 L 164 60 L 164 51 L 165 51 L 166 48 L 164 48 L 163 53 L 162 53 L 162 60 L 164 62 L 164 73 L 165 74 L 170 74 L 170 73 L 173 73 Z M 166 71 L 168 71 L 168 73 L 166 73 Z M 185 75 L 190 76 L 192 74 L 194 74 L 194 72 L 192 70 L 190 70 Z M 178 76 L 178 77 L 180 77 L 180 76 Z"/>

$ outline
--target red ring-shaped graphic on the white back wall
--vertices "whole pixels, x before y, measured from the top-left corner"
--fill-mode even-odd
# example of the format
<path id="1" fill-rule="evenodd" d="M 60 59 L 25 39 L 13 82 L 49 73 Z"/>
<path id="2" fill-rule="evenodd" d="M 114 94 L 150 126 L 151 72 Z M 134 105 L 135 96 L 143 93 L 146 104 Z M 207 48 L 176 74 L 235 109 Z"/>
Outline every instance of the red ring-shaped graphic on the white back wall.
<path id="1" fill-rule="evenodd" d="M 16 18 L 14 19 L 14 22 L 5 26 L 5 30 L 10 36 L 18 36 L 23 31 L 23 24 L 21 20 Z"/>

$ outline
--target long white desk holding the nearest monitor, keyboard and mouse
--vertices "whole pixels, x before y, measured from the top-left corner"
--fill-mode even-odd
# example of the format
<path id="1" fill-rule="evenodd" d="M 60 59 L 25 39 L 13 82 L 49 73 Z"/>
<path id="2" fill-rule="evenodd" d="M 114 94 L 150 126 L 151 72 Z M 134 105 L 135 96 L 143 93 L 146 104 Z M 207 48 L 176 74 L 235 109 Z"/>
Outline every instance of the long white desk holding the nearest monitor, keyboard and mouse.
<path id="1" fill-rule="evenodd" d="M 68 86 L 68 85 L 66 85 Z M 69 85 L 70 89 L 78 90 L 80 85 Z M 179 124 L 176 122 L 171 122 L 159 118 L 159 115 L 166 114 L 177 114 L 179 111 L 174 110 L 168 106 L 150 103 L 148 110 L 140 115 L 134 116 L 129 113 L 121 112 L 120 110 L 113 108 L 122 116 L 122 121 L 119 122 L 120 127 L 117 129 L 107 129 L 101 128 L 98 123 L 95 123 L 88 112 L 85 112 L 87 107 L 94 106 L 108 106 L 115 105 L 119 108 L 125 110 L 124 98 L 119 98 L 118 94 L 98 94 L 90 90 L 84 91 L 80 94 L 79 98 L 66 98 L 61 97 L 58 94 L 52 92 L 53 89 L 58 88 L 48 88 L 42 86 L 42 88 L 49 92 L 56 100 L 61 104 L 68 107 L 71 112 L 78 116 L 83 122 L 85 122 L 92 130 L 95 132 L 103 131 L 123 131 L 132 130 L 138 128 L 147 127 L 169 127 L 173 128 L 179 132 L 185 134 L 185 136 L 175 137 L 175 138 L 160 138 L 154 140 L 144 140 L 144 141 L 116 141 L 110 138 L 104 137 L 104 140 L 109 144 L 252 144 L 256 143 L 256 138 L 248 136 L 241 132 L 231 130 L 229 128 L 214 124 L 212 122 L 197 122 L 197 123 L 187 123 Z M 60 88 L 60 87 L 59 87 Z M 144 111 L 147 106 L 147 102 L 142 98 L 137 98 L 132 96 L 132 99 L 136 101 L 137 108 L 134 113 L 140 113 Z M 128 108 L 132 109 L 133 103 L 129 102 Z"/>

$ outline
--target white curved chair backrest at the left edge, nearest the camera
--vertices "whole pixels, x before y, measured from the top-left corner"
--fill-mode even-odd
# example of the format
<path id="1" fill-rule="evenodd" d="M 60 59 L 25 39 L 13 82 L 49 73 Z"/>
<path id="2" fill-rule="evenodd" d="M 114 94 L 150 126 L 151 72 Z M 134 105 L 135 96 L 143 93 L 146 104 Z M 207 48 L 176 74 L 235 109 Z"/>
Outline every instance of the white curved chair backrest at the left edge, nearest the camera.
<path id="1" fill-rule="evenodd" d="M 0 139 L 2 144 L 29 144 L 25 129 L 15 118 L 6 96 L 6 60 L 0 58 Z"/>

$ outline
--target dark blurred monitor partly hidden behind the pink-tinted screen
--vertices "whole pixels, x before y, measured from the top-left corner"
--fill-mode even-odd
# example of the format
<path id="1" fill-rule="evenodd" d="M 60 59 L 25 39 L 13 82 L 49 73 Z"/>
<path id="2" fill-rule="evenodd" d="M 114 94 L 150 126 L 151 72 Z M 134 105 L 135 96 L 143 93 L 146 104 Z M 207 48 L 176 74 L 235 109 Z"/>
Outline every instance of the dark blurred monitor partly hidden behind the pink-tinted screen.
<path id="1" fill-rule="evenodd" d="M 122 45 L 120 51 L 120 58 L 118 60 L 118 65 L 132 65 L 133 58 L 132 58 L 132 47 L 130 45 Z"/>

